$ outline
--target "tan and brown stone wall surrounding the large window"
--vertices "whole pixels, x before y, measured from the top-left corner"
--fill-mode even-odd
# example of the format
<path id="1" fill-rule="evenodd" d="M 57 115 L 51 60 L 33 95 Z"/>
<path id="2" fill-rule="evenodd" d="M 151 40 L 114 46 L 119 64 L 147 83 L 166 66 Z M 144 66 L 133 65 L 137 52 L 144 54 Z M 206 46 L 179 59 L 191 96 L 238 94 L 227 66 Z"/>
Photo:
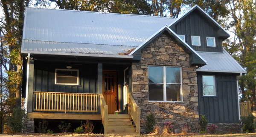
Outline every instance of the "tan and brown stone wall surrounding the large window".
<path id="1" fill-rule="evenodd" d="M 189 65 L 189 54 L 178 46 L 169 34 L 161 34 L 143 49 L 140 62 L 132 64 L 132 95 L 140 106 L 141 132 L 145 133 L 146 116 L 152 112 L 157 125 L 172 121 L 175 132 L 180 132 L 185 123 L 193 125 L 198 132 L 198 86 L 196 67 Z M 148 65 L 181 66 L 183 82 L 183 102 L 148 101 Z"/>

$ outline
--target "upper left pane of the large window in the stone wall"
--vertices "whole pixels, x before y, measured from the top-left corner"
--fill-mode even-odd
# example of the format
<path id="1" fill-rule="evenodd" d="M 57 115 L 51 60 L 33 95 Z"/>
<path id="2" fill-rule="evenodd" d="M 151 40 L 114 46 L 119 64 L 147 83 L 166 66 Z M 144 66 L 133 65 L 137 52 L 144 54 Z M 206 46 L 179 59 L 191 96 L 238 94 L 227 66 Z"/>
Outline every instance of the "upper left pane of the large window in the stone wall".
<path id="1" fill-rule="evenodd" d="M 148 82 L 163 83 L 163 67 L 148 66 Z"/>

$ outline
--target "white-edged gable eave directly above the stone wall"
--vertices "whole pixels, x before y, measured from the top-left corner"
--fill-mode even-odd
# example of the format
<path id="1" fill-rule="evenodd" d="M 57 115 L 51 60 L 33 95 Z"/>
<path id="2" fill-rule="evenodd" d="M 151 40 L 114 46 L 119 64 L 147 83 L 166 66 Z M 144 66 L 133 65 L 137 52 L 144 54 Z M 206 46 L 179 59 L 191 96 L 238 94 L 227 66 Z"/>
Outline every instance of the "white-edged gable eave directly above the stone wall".
<path id="1" fill-rule="evenodd" d="M 190 53 L 192 53 L 192 64 L 207 64 L 207 61 L 204 60 L 194 49 L 192 49 L 186 42 L 184 42 L 174 31 L 172 31 L 168 26 L 163 26 L 163 28 L 159 29 L 155 34 L 148 38 L 145 42 L 143 42 L 140 46 L 134 49 L 129 55 L 134 55 L 141 51 L 145 46 L 148 46 L 156 37 L 160 36 L 164 31 L 167 31 L 172 37 L 174 37 L 176 43 L 184 46 Z"/>

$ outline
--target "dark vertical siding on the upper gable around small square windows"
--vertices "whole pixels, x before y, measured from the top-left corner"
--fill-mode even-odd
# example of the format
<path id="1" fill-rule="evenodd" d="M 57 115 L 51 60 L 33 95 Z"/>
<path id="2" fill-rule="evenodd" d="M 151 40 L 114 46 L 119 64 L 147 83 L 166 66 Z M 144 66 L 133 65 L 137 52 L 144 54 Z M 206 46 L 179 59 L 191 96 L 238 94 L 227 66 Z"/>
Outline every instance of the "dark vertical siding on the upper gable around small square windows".
<path id="1" fill-rule="evenodd" d="M 222 39 L 218 37 L 218 27 L 206 20 L 198 11 L 193 11 L 171 26 L 171 29 L 176 34 L 185 35 L 185 41 L 189 46 L 192 46 L 191 36 L 200 36 L 201 46 L 192 46 L 196 51 L 222 52 Z M 206 37 L 215 37 L 216 47 L 207 46 Z"/>

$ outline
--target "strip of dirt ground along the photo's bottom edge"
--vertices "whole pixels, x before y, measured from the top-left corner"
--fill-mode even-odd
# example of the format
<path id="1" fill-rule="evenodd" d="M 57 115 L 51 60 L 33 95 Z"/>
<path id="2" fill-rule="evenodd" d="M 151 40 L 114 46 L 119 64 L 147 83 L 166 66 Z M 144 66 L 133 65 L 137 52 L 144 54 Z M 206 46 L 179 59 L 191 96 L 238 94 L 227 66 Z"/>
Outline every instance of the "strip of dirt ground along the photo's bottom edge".
<path id="1" fill-rule="evenodd" d="M 75 133 L 57 133 L 57 134 L 0 134 L 0 137 L 256 137 L 256 133 L 250 134 L 143 134 L 143 135 L 103 135 L 103 134 L 75 134 Z"/>

